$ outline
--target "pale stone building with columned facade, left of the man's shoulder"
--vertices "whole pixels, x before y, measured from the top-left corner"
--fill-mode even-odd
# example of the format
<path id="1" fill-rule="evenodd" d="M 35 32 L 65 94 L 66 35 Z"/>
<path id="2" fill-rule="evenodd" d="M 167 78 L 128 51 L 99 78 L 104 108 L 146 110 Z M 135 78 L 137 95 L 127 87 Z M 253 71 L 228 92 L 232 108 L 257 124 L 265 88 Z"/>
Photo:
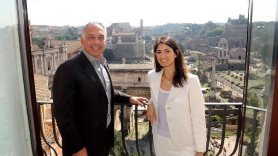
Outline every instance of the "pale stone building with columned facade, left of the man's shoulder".
<path id="1" fill-rule="evenodd" d="M 67 47 L 64 41 L 55 47 L 53 40 L 47 38 L 43 38 L 39 46 L 32 47 L 33 71 L 49 78 L 49 88 L 52 87 L 56 69 L 67 60 Z"/>

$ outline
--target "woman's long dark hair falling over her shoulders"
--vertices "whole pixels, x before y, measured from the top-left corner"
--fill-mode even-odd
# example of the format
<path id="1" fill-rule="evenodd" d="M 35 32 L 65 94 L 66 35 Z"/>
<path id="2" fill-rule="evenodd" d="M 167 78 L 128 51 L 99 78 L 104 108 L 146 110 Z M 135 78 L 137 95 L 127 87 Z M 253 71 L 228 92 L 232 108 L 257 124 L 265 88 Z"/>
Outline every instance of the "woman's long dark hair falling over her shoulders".
<path id="1" fill-rule="evenodd" d="M 187 67 L 185 64 L 185 61 L 183 59 L 182 53 L 179 49 L 179 45 L 176 42 L 175 39 L 167 36 L 160 37 L 159 39 L 156 40 L 154 44 L 154 56 L 155 56 L 155 69 L 156 72 L 159 72 L 162 70 L 162 66 L 159 64 L 158 59 L 156 57 L 156 52 L 158 49 L 158 45 L 160 43 L 164 43 L 171 47 L 174 51 L 174 53 L 177 55 L 175 58 L 175 75 L 173 77 L 173 85 L 174 87 L 183 87 L 183 82 L 187 80 Z M 177 51 L 178 50 L 178 51 Z"/>

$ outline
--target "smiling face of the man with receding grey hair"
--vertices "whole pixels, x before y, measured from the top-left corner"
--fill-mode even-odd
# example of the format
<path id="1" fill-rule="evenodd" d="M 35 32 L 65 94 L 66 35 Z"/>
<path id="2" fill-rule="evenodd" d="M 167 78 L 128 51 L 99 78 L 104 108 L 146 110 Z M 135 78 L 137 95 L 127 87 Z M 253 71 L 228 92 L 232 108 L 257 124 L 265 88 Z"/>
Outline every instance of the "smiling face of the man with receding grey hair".
<path id="1" fill-rule="evenodd" d="M 106 40 L 103 28 L 99 24 L 91 24 L 81 36 L 81 44 L 85 51 L 99 59 L 105 49 Z"/>

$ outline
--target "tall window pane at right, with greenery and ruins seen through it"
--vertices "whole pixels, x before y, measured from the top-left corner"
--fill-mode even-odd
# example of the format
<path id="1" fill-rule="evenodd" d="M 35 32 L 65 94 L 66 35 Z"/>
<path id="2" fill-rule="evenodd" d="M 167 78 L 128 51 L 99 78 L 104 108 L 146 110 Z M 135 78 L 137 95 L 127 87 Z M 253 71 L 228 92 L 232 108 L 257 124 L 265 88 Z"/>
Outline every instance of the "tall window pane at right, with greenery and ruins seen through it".
<path id="1" fill-rule="evenodd" d="M 276 6 L 277 0 L 254 0 L 243 142 L 246 156 L 267 155 L 275 80 L 271 73 L 276 59 L 273 58 Z"/>

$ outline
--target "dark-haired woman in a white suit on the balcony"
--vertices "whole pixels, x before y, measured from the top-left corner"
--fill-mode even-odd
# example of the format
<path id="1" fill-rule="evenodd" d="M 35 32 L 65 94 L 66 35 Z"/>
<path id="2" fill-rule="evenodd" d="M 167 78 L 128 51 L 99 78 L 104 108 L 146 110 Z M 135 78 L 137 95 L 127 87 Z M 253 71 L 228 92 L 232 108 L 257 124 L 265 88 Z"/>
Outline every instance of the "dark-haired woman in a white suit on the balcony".
<path id="1" fill-rule="evenodd" d="M 206 125 L 199 78 L 187 72 L 179 46 L 170 37 L 156 40 L 154 56 L 155 69 L 148 73 L 152 100 L 147 116 L 156 156 L 202 156 Z"/>

